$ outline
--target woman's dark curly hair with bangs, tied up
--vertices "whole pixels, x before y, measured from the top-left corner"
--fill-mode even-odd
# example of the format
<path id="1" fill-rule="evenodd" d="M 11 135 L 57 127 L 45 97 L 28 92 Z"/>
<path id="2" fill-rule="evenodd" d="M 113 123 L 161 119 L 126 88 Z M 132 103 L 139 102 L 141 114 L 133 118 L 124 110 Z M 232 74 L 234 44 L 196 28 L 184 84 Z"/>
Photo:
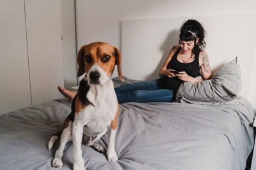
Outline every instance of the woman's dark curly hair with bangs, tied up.
<path id="1" fill-rule="evenodd" d="M 200 52 L 204 51 L 205 48 L 205 38 L 206 31 L 202 24 L 197 20 L 186 20 L 180 27 L 180 41 L 194 41 L 195 47 L 192 50 L 192 53 L 199 55 Z M 196 44 L 196 39 L 199 38 L 198 43 Z"/>

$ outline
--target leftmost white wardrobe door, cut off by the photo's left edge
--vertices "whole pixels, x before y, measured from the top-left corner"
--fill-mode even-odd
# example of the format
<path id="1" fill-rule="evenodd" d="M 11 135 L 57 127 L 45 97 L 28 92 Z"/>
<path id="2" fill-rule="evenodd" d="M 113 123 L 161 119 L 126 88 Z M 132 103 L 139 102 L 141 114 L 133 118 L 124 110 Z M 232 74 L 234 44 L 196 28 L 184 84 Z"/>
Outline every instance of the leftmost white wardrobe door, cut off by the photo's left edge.
<path id="1" fill-rule="evenodd" d="M 31 106 L 23 1 L 0 1 L 0 114 Z"/>

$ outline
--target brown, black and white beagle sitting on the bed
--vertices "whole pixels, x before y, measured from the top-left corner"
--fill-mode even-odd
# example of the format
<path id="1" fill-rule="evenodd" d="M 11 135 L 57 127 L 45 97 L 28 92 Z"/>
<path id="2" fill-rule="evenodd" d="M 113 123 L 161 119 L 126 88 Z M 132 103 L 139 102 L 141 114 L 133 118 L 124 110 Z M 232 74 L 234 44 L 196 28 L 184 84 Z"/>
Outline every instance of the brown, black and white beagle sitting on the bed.
<path id="1" fill-rule="evenodd" d="M 61 157 L 68 141 L 73 142 L 73 169 L 85 169 L 81 143 L 103 152 L 97 143 L 108 131 L 108 161 L 118 160 L 115 152 L 115 133 L 118 117 L 118 101 L 111 74 L 115 65 L 118 75 L 122 77 L 121 55 L 117 48 L 108 43 L 95 42 L 81 47 L 77 53 L 79 70 L 77 76 L 84 73 L 76 97 L 72 101 L 72 111 L 63 123 L 62 131 L 51 137 L 48 148 L 60 137 L 60 146 L 52 160 L 52 167 L 62 167 Z"/>

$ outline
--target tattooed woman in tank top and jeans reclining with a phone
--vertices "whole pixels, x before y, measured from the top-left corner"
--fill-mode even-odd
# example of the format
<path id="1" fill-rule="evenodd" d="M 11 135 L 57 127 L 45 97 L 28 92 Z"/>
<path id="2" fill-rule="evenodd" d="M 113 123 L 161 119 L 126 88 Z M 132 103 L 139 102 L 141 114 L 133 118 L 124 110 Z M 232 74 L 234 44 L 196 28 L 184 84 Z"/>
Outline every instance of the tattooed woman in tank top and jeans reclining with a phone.
<path id="1" fill-rule="evenodd" d="M 209 80 L 212 76 L 205 48 L 205 29 L 196 20 L 187 20 L 182 24 L 179 45 L 173 46 L 163 67 L 159 71 L 161 78 L 141 81 L 115 88 L 119 103 L 126 102 L 172 102 L 179 85 L 184 81 L 197 83 Z M 200 76 L 204 80 L 196 79 Z M 179 73 L 175 73 L 177 71 Z M 73 99 L 75 92 L 58 87 L 60 92 Z"/>

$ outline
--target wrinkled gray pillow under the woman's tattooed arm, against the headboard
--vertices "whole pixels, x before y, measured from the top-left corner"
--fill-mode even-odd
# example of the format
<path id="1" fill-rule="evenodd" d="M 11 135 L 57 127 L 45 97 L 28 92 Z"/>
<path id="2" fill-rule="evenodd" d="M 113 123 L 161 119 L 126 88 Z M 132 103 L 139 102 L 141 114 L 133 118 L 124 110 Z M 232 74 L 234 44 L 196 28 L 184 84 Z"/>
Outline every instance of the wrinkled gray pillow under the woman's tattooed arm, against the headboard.
<path id="1" fill-rule="evenodd" d="M 241 71 L 237 57 L 222 66 L 211 80 L 184 82 L 176 93 L 179 103 L 226 103 L 237 99 L 241 90 Z"/>

